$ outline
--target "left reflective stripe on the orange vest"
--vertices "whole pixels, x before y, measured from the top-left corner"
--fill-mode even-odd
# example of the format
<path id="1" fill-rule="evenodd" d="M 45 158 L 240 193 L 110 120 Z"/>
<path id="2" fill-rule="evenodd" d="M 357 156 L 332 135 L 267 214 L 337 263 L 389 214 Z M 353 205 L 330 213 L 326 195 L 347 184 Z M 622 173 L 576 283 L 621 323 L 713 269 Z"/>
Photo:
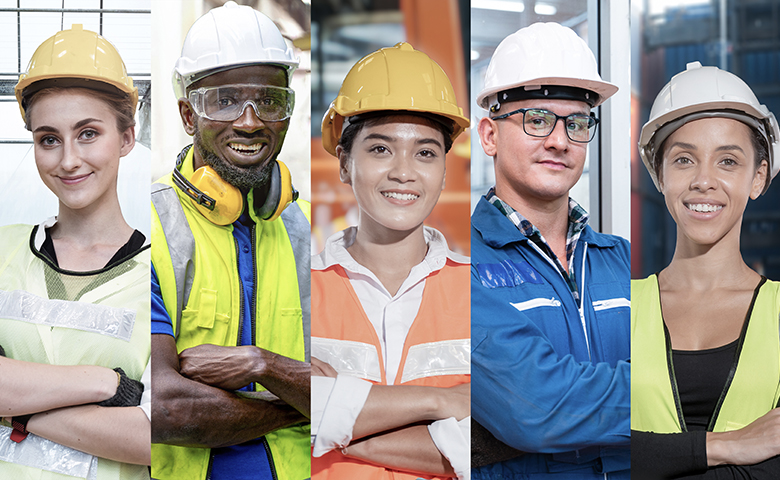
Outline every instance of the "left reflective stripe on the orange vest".
<path id="1" fill-rule="evenodd" d="M 379 355 L 369 343 L 312 337 L 312 356 L 329 364 L 337 372 L 372 382 L 382 381 Z"/>

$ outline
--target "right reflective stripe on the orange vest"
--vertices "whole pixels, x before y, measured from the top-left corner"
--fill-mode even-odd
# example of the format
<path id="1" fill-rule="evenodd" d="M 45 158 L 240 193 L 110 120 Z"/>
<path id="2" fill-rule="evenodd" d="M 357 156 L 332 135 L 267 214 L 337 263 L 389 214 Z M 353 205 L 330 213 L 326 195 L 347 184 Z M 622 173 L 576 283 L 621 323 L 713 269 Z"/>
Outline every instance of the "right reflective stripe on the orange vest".
<path id="1" fill-rule="evenodd" d="M 469 375 L 470 360 L 470 338 L 412 345 L 406 355 L 401 383 L 439 375 Z"/>

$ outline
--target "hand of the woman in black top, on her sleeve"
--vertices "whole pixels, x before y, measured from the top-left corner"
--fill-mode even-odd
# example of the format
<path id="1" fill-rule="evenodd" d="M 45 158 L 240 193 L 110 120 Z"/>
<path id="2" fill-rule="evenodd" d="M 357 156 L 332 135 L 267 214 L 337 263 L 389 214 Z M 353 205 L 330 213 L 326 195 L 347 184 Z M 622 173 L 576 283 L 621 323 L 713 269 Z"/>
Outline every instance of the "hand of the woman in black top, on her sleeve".
<path id="1" fill-rule="evenodd" d="M 753 465 L 780 455 L 780 409 L 731 432 L 707 433 L 707 464 Z"/>

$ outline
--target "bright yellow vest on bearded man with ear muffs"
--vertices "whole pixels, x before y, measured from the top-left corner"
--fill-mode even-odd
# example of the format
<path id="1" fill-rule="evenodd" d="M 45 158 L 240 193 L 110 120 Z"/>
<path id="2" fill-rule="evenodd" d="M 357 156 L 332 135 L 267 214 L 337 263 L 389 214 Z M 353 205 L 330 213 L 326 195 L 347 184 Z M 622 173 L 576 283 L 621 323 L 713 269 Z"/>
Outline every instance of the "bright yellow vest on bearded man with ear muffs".
<path id="1" fill-rule="evenodd" d="M 192 176 L 192 160 L 190 149 L 180 166 L 185 178 Z M 233 226 L 215 225 L 201 215 L 171 174 L 152 186 L 152 206 L 152 262 L 177 350 L 238 345 L 243 302 Z M 310 361 L 310 205 L 292 203 L 273 221 L 249 211 L 255 222 L 254 344 Z M 279 480 L 311 476 L 310 430 L 309 424 L 294 425 L 265 436 Z M 152 445 L 152 477 L 159 480 L 203 480 L 210 463 L 208 448 Z"/>

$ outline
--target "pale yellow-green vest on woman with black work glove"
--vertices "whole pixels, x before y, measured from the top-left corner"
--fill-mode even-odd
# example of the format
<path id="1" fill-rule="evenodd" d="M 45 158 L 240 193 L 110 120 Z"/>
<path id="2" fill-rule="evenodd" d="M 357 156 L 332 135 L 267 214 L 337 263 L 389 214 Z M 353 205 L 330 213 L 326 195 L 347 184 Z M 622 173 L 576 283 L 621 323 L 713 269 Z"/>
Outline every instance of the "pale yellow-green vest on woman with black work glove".
<path id="1" fill-rule="evenodd" d="M 6 355 L 51 365 L 121 367 L 140 380 L 151 352 L 149 248 L 108 269 L 68 273 L 32 251 L 31 231 L 29 225 L 0 229 L 0 344 Z M 0 452 L 14 455 L 5 457 L 14 463 L 0 461 L 0 478 L 149 479 L 143 465 L 93 457 L 33 434 L 19 444 L 23 449 L 14 448 L 10 429 L 0 429 Z"/>

